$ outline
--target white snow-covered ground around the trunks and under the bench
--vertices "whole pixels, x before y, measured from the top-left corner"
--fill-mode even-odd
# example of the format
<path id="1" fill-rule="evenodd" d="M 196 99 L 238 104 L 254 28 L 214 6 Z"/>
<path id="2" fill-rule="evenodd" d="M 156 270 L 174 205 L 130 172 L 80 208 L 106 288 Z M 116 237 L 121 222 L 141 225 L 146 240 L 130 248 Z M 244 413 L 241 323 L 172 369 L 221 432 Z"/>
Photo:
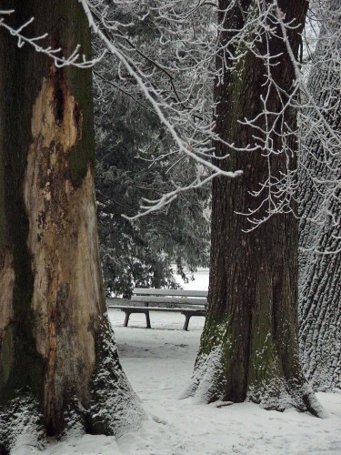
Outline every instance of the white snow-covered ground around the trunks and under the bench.
<path id="1" fill-rule="evenodd" d="M 109 311 L 122 365 L 149 420 L 118 439 L 84 435 L 51 441 L 43 452 L 25 445 L 13 454 L 341 454 L 341 393 L 317 394 L 326 419 L 252 403 L 217 406 L 179 399 L 193 371 L 204 318 L 192 318 L 186 332 L 178 313 L 151 313 L 152 329 L 145 329 L 143 314 L 131 315 L 124 328 L 124 316 Z"/>

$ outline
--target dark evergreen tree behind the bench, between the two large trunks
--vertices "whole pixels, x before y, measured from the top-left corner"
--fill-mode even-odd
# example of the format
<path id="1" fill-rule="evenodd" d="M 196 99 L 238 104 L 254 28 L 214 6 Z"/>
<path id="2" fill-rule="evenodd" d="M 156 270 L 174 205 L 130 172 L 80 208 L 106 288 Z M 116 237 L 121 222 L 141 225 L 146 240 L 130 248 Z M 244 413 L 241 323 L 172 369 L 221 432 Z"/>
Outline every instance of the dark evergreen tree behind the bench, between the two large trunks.
<path id="1" fill-rule="evenodd" d="M 165 21 L 160 24 L 153 15 L 141 21 L 144 8 L 115 5 L 113 15 L 132 24 L 123 28 L 122 39 L 134 53 L 138 45 L 135 61 L 145 72 L 154 68 L 153 84 L 174 97 L 168 70 L 161 66 L 164 60 L 167 66 L 176 60 L 175 44 L 160 46 Z M 188 157 L 179 159 L 169 132 L 131 77 L 120 78 L 118 67 L 109 56 L 95 70 L 96 198 L 105 289 L 129 296 L 134 287 L 178 286 L 172 263 L 183 278 L 187 268 L 193 272 L 207 265 L 209 188 L 180 194 L 170 206 L 135 221 L 122 217 L 134 217 L 145 198 L 155 200 L 186 186 L 206 170 Z M 181 86 L 182 76 L 175 77 Z"/>

